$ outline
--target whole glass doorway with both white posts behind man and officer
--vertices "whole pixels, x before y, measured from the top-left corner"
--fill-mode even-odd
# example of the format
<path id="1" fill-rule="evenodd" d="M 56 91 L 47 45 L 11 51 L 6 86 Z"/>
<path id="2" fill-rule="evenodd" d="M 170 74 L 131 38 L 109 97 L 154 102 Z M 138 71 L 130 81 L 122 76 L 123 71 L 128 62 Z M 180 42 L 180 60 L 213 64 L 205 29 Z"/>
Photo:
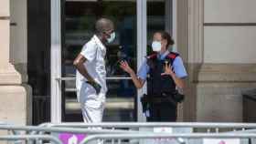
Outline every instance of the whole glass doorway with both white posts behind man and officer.
<path id="1" fill-rule="evenodd" d="M 156 30 L 165 30 L 168 0 L 52 0 L 51 1 L 51 121 L 82 121 L 76 99 L 72 62 L 93 36 L 95 21 L 111 18 L 116 39 L 106 46 L 108 93 L 103 121 L 144 121 L 139 96 L 118 60 L 127 60 L 136 71 L 149 52 Z M 148 11 L 148 13 L 147 13 Z M 61 15 L 61 16 L 60 16 Z M 169 23 L 170 24 L 170 23 Z M 147 35 L 147 33 L 149 35 Z M 147 47 L 147 48 L 146 48 Z"/>

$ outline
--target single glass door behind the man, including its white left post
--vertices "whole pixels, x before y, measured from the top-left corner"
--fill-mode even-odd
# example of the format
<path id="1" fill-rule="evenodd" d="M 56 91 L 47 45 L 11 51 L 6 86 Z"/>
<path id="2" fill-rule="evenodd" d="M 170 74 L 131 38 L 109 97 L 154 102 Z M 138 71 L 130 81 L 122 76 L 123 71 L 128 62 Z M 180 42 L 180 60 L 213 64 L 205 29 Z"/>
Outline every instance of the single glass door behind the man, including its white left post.
<path id="1" fill-rule="evenodd" d="M 116 39 L 106 46 L 108 93 L 103 121 L 136 121 L 137 90 L 119 67 L 118 60 L 126 59 L 134 70 L 137 67 L 136 1 L 52 1 L 52 101 L 51 121 L 82 121 L 75 89 L 75 67 L 72 62 L 81 47 L 93 36 L 94 24 L 108 17 L 115 24 Z M 56 15 L 55 18 L 54 15 Z M 60 28 L 61 27 L 61 28 Z M 56 31 L 56 32 L 54 32 Z M 56 36 L 59 34 L 58 36 Z M 56 37 L 55 37 L 56 36 Z M 55 39 L 54 39 L 55 38 Z M 54 50 L 55 49 L 55 50 Z M 59 67 L 61 66 L 61 67 Z"/>

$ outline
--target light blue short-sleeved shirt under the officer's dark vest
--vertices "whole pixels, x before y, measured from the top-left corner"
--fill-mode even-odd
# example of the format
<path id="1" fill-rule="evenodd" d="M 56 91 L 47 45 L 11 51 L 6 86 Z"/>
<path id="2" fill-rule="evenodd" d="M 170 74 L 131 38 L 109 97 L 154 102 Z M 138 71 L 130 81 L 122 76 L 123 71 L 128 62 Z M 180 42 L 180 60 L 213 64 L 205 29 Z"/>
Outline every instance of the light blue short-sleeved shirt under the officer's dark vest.
<path id="1" fill-rule="evenodd" d="M 164 54 L 160 55 L 158 54 L 157 58 L 160 58 L 161 60 L 165 59 L 165 57 L 169 54 L 170 52 L 167 50 Z M 173 66 L 174 71 L 176 73 L 176 77 L 179 78 L 185 78 L 187 77 L 187 71 L 183 65 L 183 61 L 181 57 L 176 57 Z M 147 73 L 149 72 L 149 66 L 146 63 L 146 60 L 144 60 L 143 65 L 139 68 L 138 71 L 138 77 L 140 77 L 143 80 L 146 80 Z"/>

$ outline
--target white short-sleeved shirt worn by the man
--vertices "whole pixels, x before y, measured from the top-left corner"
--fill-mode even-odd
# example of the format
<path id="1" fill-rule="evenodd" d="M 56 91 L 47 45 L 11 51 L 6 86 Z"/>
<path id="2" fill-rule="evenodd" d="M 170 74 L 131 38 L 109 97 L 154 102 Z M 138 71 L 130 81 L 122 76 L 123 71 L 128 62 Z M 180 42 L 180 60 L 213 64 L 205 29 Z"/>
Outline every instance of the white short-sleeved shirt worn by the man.
<path id="1" fill-rule="evenodd" d="M 101 85 L 101 93 L 105 94 L 108 90 L 106 85 L 106 68 L 104 60 L 104 57 L 106 56 L 106 47 L 102 45 L 101 40 L 97 36 L 93 36 L 91 40 L 82 47 L 80 55 L 87 59 L 84 63 L 84 67 L 86 67 L 89 75 Z M 77 70 L 77 91 L 81 90 L 82 83 L 85 81 L 87 81 L 87 79 Z"/>

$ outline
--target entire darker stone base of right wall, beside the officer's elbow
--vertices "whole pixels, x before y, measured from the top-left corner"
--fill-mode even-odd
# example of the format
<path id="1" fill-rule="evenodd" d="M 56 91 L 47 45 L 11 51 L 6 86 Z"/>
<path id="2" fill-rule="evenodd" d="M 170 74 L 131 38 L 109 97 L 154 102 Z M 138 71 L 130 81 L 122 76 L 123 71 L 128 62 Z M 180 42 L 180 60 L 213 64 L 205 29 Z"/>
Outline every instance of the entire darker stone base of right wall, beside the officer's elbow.
<path id="1" fill-rule="evenodd" d="M 256 87 L 254 64 L 189 64 L 183 121 L 242 122 L 242 92 Z"/>

